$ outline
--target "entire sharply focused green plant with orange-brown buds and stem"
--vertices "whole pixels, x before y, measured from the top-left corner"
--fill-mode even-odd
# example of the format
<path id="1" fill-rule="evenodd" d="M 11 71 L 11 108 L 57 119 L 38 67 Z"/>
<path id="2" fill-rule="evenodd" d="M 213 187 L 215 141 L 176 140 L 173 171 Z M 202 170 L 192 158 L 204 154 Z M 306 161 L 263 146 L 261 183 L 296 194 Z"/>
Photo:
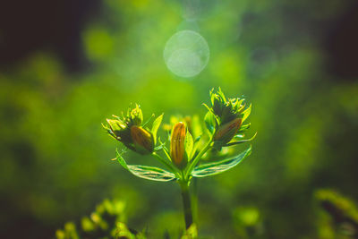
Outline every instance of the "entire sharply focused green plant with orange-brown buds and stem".
<path id="1" fill-rule="evenodd" d="M 185 117 L 182 121 L 172 117 L 173 125 L 166 125 L 170 132 L 168 143 L 157 137 L 163 115 L 159 115 L 149 128 L 151 118 L 143 124 L 143 114 L 138 105 L 129 108 L 122 117 L 114 115 L 115 119 L 107 119 L 103 127 L 126 148 L 142 155 L 150 154 L 166 166 L 163 169 L 157 166 L 128 165 L 124 153 L 116 152 L 115 159 L 133 175 L 161 182 L 176 181 L 181 186 L 185 225 L 189 228 L 193 223 L 189 190 L 192 178 L 223 173 L 251 154 L 249 146 L 232 158 L 215 160 L 226 156 L 223 148 L 251 141 L 256 135 L 243 139 L 244 132 L 250 127 L 245 121 L 251 114 L 251 105 L 247 106 L 244 101 L 243 98 L 226 98 L 220 88 L 217 92 L 210 90 L 211 105 L 204 104 L 208 109 L 204 117 L 207 131 L 202 132 L 197 116 Z"/>

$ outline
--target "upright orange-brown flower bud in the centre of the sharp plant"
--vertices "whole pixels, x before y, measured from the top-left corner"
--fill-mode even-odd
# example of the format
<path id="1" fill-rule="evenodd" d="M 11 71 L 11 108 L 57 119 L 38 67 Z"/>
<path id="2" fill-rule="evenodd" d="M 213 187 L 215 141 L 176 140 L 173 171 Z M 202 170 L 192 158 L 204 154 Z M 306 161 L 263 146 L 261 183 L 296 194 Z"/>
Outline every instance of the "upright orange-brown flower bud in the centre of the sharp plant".
<path id="1" fill-rule="evenodd" d="M 174 125 L 170 140 L 170 157 L 176 166 L 181 166 L 185 155 L 186 127 L 183 122 Z"/>

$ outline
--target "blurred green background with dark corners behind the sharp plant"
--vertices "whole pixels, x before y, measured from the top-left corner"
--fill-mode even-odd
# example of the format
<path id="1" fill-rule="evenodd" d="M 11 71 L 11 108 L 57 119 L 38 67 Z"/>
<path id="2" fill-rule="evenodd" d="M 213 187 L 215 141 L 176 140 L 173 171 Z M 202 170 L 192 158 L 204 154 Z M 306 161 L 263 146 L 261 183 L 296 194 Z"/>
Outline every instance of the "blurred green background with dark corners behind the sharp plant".
<path id="1" fill-rule="evenodd" d="M 42 2 L 38 13 L 49 17 L 56 5 Z M 258 136 L 243 164 L 198 182 L 200 235 L 334 238 L 320 229 L 313 194 L 334 188 L 358 201 L 355 1 L 93 2 L 61 5 L 64 14 L 50 18 L 60 20 L 38 33 L 24 23 L 34 7 L 21 16 L 26 4 L 12 6 L 22 9 L 13 25 L 1 19 L 1 238 L 54 237 L 105 198 L 124 201 L 128 226 L 148 226 L 151 238 L 180 230 L 178 186 L 142 180 L 111 161 L 118 142 L 101 123 L 131 103 L 146 117 L 165 112 L 165 122 L 203 116 L 201 103 L 218 86 L 252 103 Z M 167 39 L 184 29 L 197 30 L 210 50 L 209 64 L 191 79 L 170 73 L 163 60 Z M 9 48 L 7 34 L 18 31 Z M 54 37 L 39 40 L 47 32 Z M 21 55 L 21 46 L 32 48 Z M 153 162 L 131 152 L 127 159 Z"/>

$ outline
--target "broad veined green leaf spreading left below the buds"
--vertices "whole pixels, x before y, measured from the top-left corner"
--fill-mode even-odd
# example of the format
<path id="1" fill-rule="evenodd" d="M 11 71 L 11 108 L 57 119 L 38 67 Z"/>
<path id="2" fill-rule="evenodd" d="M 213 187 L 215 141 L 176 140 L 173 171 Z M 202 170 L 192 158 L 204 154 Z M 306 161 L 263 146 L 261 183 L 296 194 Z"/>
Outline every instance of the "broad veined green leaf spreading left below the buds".
<path id="1" fill-rule="evenodd" d="M 116 152 L 118 162 L 132 175 L 136 175 L 138 177 L 159 181 L 159 182 L 168 182 L 176 179 L 175 175 L 156 166 L 141 166 L 141 165 L 127 165 L 122 155 Z"/>

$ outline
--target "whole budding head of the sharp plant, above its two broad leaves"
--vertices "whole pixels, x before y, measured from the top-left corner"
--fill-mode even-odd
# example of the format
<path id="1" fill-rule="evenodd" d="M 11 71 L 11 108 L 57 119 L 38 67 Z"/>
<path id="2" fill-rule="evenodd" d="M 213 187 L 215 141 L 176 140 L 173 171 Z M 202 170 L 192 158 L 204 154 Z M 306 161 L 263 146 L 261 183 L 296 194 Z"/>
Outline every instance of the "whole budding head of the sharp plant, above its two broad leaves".
<path id="1" fill-rule="evenodd" d="M 222 147 L 253 139 L 252 137 L 249 140 L 236 140 L 243 138 L 243 132 L 250 126 L 250 124 L 243 124 L 251 113 L 251 106 L 246 107 L 243 98 L 226 98 L 219 88 L 217 92 L 210 90 L 210 101 L 211 106 L 207 106 L 209 112 L 204 119 L 209 129 L 209 137 L 203 135 L 197 115 L 172 116 L 170 124 L 163 125 L 168 132 L 168 148 L 166 148 L 166 142 L 160 141 L 159 138 L 159 144 L 156 147 L 157 131 L 163 115 L 159 115 L 153 121 L 150 130 L 146 124 L 143 124 L 143 114 L 138 105 L 129 108 L 126 115 L 122 114 L 122 117 L 113 115 L 114 119 L 107 119 L 107 124 L 103 127 L 110 136 L 122 142 L 126 148 L 142 155 L 152 154 L 165 164 L 171 173 L 189 180 L 192 170 L 209 149 L 214 149 L 213 152 L 217 153 Z M 166 159 L 160 156 L 158 150 L 163 150 Z M 124 161 L 122 164 L 125 165 Z M 153 177 L 159 174 L 156 170 L 150 171 L 150 174 L 154 174 Z M 133 174 L 141 175 L 143 172 L 143 168 L 140 168 Z M 141 176 L 148 177 L 149 173 L 147 173 Z M 163 178 L 171 176 L 164 175 Z"/>

